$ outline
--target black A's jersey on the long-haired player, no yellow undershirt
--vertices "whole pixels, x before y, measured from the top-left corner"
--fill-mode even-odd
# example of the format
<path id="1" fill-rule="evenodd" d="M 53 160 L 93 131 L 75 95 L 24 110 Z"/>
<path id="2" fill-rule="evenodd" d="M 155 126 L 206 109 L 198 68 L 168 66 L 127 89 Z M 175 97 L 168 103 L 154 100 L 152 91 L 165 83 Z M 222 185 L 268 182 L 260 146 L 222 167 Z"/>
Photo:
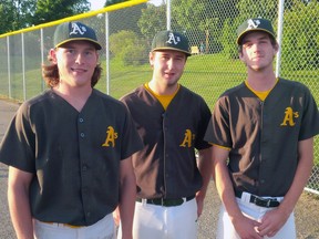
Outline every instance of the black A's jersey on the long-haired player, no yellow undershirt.
<path id="1" fill-rule="evenodd" d="M 34 174 L 32 216 L 90 226 L 119 202 L 120 160 L 142 148 L 126 107 L 93 90 L 79 113 L 49 90 L 18 110 L 0 160 Z"/>

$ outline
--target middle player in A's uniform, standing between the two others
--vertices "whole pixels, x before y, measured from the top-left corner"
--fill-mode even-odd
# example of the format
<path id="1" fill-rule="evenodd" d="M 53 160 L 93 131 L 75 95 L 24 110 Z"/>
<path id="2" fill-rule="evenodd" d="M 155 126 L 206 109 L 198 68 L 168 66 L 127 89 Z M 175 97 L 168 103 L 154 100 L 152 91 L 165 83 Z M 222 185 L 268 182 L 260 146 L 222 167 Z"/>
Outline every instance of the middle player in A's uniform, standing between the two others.
<path id="1" fill-rule="evenodd" d="M 178 83 L 189 55 L 185 35 L 158 32 L 150 53 L 152 80 L 122 98 L 144 143 L 133 156 L 134 239 L 197 236 L 212 174 L 210 145 L 203 139 L 210 111 L 199 95 Z"/>

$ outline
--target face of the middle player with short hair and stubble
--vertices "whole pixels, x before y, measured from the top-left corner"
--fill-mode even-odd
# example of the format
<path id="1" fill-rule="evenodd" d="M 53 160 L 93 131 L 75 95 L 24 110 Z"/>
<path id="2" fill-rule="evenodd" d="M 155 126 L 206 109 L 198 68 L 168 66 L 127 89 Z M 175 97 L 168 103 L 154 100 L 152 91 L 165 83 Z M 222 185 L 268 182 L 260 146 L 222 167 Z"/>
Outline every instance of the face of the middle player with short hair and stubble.
<path id="1" fill-rule="evenodd" d="M 175 86 L 186 63 L 186 54 L 178 51 L 155 51 L 150 53 L 153 80 L 157 85 Z"/>

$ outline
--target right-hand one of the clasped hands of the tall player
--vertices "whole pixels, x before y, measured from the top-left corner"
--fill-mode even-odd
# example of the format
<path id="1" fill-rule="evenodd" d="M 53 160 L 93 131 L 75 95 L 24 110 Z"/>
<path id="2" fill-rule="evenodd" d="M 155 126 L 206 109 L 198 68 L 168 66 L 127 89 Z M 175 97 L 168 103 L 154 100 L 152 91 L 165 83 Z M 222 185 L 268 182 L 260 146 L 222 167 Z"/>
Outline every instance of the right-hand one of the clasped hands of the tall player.
<path id="1" fill-rule="evenodd" d="M 258 227 L 259 235 L 274 237 L 286 224 L 288 217 L 289 214 L 280 211 L 279 208 L 267 211 L 261 218 L 261 224 Z"/>

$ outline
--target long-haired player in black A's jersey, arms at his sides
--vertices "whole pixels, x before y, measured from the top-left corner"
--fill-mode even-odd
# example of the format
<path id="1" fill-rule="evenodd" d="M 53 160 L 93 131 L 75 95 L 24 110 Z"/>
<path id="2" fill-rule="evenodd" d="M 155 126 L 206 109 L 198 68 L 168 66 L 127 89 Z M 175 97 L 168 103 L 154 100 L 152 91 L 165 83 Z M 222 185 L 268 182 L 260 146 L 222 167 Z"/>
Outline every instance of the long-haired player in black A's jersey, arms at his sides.
<path id="1" fill-rule="evenodd" d="M 132 239 L 131 156 L 142 142 L 123 103 L 93 89 L 101 49 L 90 27 L 58 25 L 43 66 L 50 90 L 20 106 L 1 143 L 19 239 L 115 238 L 117 205 L 123 238 Z"/>

